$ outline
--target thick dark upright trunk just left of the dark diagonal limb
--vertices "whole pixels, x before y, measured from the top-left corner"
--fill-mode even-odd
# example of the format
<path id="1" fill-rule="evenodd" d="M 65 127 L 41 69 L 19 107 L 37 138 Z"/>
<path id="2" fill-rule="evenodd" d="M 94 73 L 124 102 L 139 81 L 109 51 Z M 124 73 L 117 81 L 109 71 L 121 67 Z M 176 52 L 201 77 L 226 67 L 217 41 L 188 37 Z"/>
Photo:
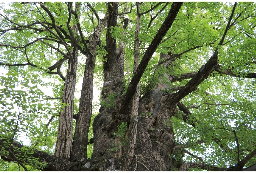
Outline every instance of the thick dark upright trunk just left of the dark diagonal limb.
<path id="1" fill-rule="evenodd" d="M 117 6 L 118 2 L 108 3 L 105 47 L 107 55 L 103 61 L 102 104 L 99 115 L 96 116 L 93 123 L 94 150 L 92 158 L 97 160 L 101 158 L 102 161 L 117 157 L 117 152 L 111 151 L 111 149 L 115 148 L 117 142 L 113 132 L 115 132 L 117 125 L 120 124 L 120 121 L 113 120 L 115 119 L 114 105 L 115 101 L 118 100 L 117 96 L 123 93 L 122 78 L 124 75 L 124 44 L 119 43 L 119 49 L 117 49 L 116 39 L 111 37 L 111 27 L 117 25 Z M 100 166 L 105 167 L 104 163 Z"/>

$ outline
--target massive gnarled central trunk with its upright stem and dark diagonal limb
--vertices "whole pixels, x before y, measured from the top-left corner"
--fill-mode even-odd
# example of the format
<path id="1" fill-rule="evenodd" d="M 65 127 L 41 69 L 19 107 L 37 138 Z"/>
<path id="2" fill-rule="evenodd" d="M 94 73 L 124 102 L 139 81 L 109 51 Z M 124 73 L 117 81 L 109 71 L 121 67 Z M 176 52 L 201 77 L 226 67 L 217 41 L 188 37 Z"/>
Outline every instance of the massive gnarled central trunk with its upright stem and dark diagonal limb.
<path id="1" fill-rule="evenodd" d="M 151 45 L 152 49 L 155 50 L 159 45 L 161 38 L 169 29 L 165 24 L 168 23 L 167 25 L 170 27 L 179 11 L 179 8 L 181 7 L 181 4 L 182 3 L 173 4 L 172 9 L 169 12 L 168 19 L 166 19 L 164 23 L 164 27 L 160 28 L 158 35 L 155 37 L 155 39 L 159 41 L 156 41 Z M 122 46 L 119 44 L 119 50 L 117 50 L 116 40 L 110 35 L 111 26 L 116 26 L 117 24 L 117 5 L 117 2 L 108 4 L 106 37 L 106 51 L 108 54 L 105 58 L 106 61 L 103 62 L 104 84 L 102 90 L 102 102 L 104 105 L 101 105 L 99 110 L 100 114 L 96 116 L 93 124 L 94 151 L 92 155 L 92 162 L 97 160 L 97 164 L 94 165 L 93 170 L 136 169 L 138 171 L 168 171 L 172 165 L 169 154 L 174 147 L 174 134 L 169 122 L 169 115 L 174 110 L 173 107 L 170 109 L 169 106 L 167 108 L 165 106 L 160 108 L 159 113 L 156 113 L 159 120 L 157 120 L 156 117 L 151 116 L 153 114 L 155 102 L 158 102 L 157 104 L 161 104 L 161 97 L 157 98 L 157 101 L 154 101 L 149 94 L 148 97 L 144 97 L 144 99 L 142 99 L 138 104 L 139 80 L 137 83 L 131 82 L 129 86 L 133 88 L 132 85 L 135 85 L 134 88 L 137 90 L 136 93 L 131 93 L 131 91 L 129 91 L 130 93 L 128 94 L 130 94 L 130 97 L 126 93 L 125 99 L 129 101 L 117 97 L 122 95 L 123 92 L 122 77 L 124 74 L 124 58 L 121 50 Z M 135 42 L 139 43 L 137 39 Z M 137 52 L 138 55 L 136 54 L 137 58 L 135 58 L 134 74 L 138 75 L 136 71 L 136 68 L 139 68 L 138 47 L 135 47 L 135 52 Z M 149 61 L 153 53 L 154 51 L 149 51 L 144 55 L 144 59 Z M 140 66 L 145 65 L 140 63 Z M 133 97 L 134 94 L 135 96 Z M 115 104 L 111 103 L 111 101 L 113 101 L 112 98 L 115 98 Z M 166 98 L 163 97 L 163 99 Z M 134 101 L 133 104 L 132 100 Z M 164 102 L 164 100 L 161 102 Z M 134 109 L 133 114 L 131 114 L 132 105 Z M 120 110 L 120 108 L 125 108 L 125 110 Z M 139 116 L 138 119 L 136 118 L 137 116 Z M 138 124 L 136 121 L 138 121 Z M 117 126 L 122 122 L 127 122 L 127 126 L 130 127 L 129 138 L 131 142 L 128 146 L 124 146 L 122 139 L 113 135 L 114 132 L 117 132 Z M 152 128 L 155 126 L 157 127 L 157 130 L 152 131 Z M 128 136 L 129 133 L 126 134 L 126 137 Z M 124 149 L 127 149 L 127 152 L 123 152 Z M 129 154 L 129 158 L 126 157 L 127 153 Z"/>

